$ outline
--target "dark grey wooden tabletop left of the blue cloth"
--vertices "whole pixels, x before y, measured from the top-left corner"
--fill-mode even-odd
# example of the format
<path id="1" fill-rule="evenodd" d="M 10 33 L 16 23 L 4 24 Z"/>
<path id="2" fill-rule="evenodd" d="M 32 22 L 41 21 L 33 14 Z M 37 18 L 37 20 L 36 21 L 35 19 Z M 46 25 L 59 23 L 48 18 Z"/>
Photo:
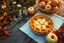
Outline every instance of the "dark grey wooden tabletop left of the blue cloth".
<path id="1" fill-rule="evenodd" d="M 26 19 L 27 21 L 29 20 L 29 18 Z M 10 28 L 12 30 L 11 35 L 6 39 L 0 39 L 0 43 L 37 43 L 19 30 L 25 23 L 24 21 L 20 21 L 19 23 L 13 22 L 12 26 L 14 26 Z"/>

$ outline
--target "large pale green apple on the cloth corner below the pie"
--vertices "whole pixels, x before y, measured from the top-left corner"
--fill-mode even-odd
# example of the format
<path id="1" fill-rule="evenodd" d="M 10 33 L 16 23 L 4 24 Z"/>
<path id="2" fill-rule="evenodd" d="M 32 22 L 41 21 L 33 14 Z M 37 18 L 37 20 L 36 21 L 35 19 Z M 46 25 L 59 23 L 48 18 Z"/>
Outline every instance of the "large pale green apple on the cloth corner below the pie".
<path id="1" fill-rule="evenodd" d="M 46 36 L 47 43 L 57 43 L 58 37 L 54 33 L 49 33 Z"/>

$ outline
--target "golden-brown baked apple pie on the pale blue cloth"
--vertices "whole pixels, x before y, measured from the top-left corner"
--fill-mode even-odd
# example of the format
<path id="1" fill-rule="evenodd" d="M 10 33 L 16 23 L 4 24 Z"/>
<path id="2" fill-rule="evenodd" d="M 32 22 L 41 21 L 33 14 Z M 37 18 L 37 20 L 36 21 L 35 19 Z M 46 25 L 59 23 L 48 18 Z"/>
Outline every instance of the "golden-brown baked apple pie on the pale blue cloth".
<path id="1" fill-rule="evenodd" d="M 29 24 L 31 29 L 38 34 L 48 34 L 54 28 L 53 20 L 43 14 L 33 16 Z"/>

